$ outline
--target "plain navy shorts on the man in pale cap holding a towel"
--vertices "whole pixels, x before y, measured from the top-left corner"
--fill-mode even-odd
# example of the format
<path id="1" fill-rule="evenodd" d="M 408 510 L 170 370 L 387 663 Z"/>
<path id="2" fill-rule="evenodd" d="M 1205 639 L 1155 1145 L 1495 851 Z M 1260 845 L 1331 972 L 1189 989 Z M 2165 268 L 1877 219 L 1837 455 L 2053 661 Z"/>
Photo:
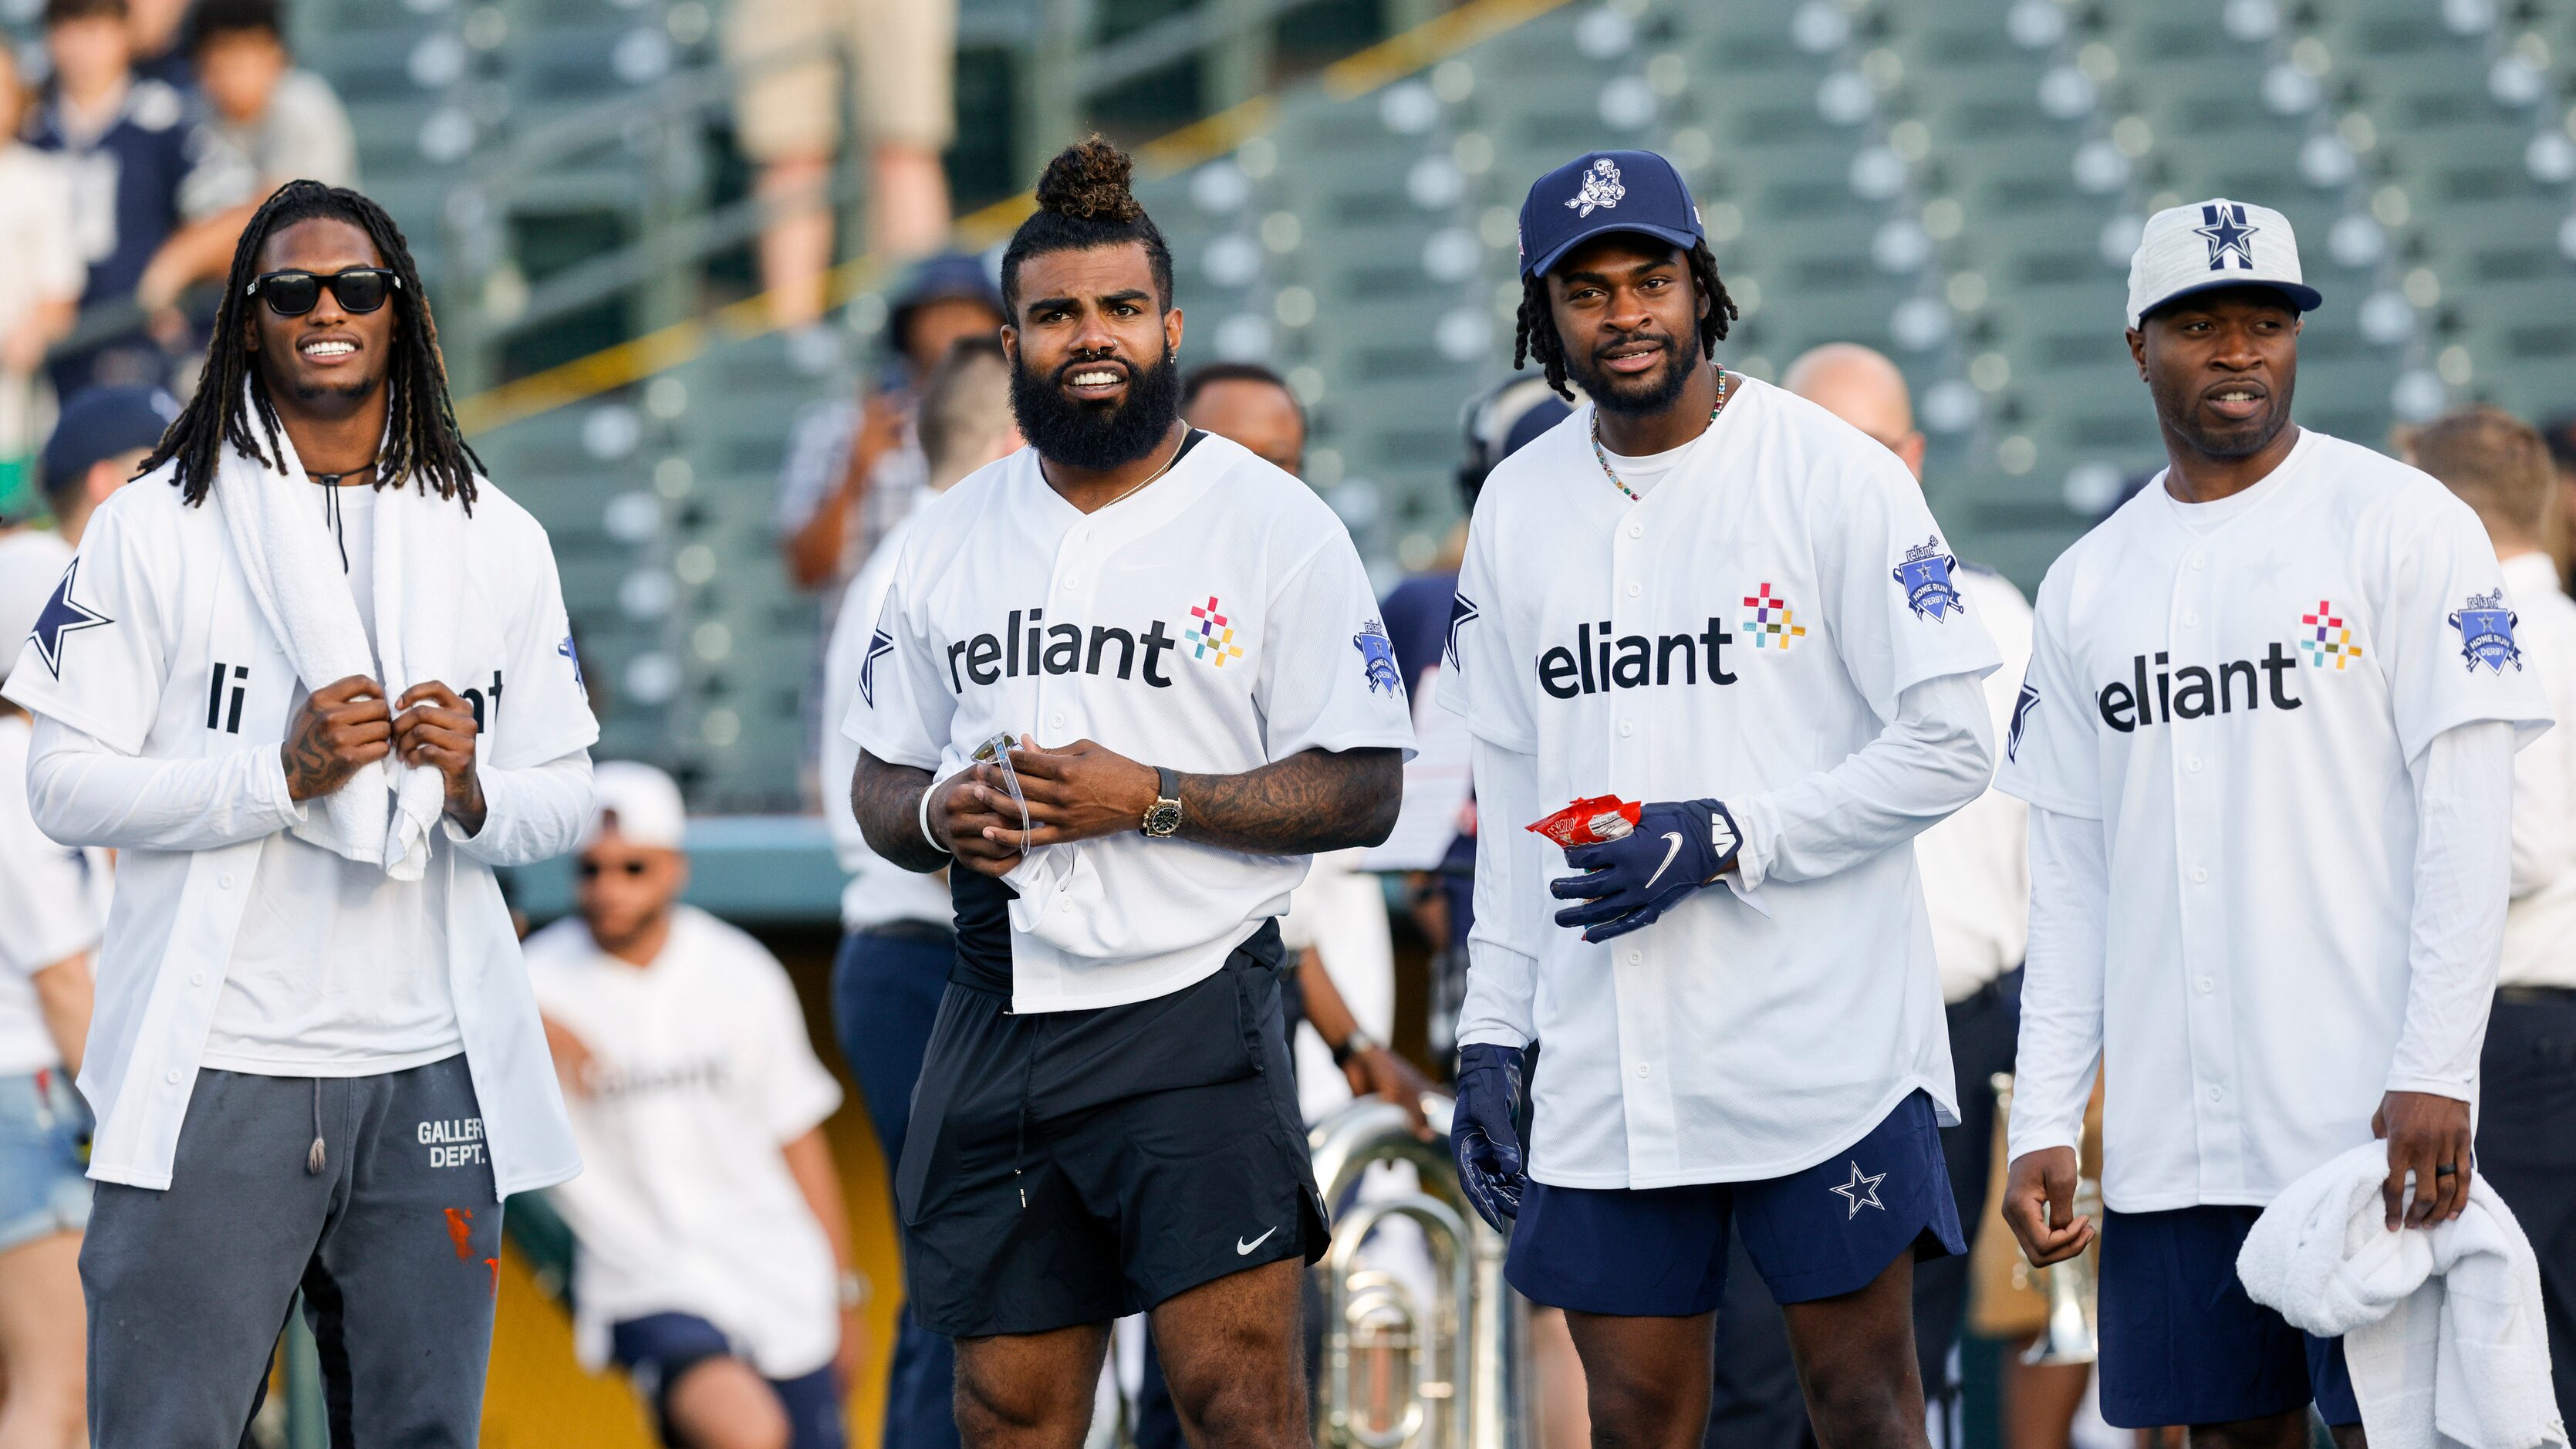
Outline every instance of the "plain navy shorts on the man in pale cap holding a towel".
<path id="1" fill-rule="evenodd" d="M 2236 1281 L 2259 1207 L 2102 1214 L 2102 1418 L 2233 1423 L 2316 1403 L 2360 1423 L 2342 1338 L 2311 1338 Z"/>

